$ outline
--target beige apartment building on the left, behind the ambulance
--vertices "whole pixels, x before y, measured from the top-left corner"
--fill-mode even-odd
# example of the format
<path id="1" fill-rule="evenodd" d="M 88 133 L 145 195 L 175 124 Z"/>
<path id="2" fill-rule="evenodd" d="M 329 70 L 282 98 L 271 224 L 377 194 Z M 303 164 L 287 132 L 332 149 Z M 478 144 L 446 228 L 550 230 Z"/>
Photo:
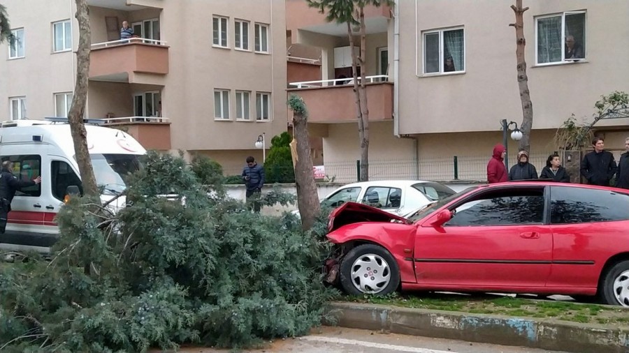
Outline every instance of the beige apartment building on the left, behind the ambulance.
<path id="1" fill-rule="evenodd" d="M 87 117 L 148 149 L 205 153 L 226 170 L 263 159 L 287 129 L 283 0 L 87 0 Z M 17 44 L 1 45 L 3 120 L 67 115 L 75 84 L 74 0 L 6 0 Z M 120 40 L 126 21 L 134 38 Z"/>

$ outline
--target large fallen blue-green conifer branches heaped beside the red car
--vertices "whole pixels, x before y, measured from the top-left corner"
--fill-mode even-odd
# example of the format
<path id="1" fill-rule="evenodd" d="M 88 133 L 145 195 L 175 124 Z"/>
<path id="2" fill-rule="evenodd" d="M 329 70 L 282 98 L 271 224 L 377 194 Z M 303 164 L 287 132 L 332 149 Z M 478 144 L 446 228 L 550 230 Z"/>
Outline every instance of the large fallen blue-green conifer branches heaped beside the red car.
<path id="1" fill-rule="evenodd" d="M 144 165 L 124 209 L 76 197 L 51 260 L 0 266 L 0 350 L 245 347 L 319 324 L 333 295 L 319 273 L 323 215 L 303 232 L 289 213 L 262 216 L 205 189 L 182 158 L 149 152 Z M 277 190 L 259 200 L 293 201 Z"/>

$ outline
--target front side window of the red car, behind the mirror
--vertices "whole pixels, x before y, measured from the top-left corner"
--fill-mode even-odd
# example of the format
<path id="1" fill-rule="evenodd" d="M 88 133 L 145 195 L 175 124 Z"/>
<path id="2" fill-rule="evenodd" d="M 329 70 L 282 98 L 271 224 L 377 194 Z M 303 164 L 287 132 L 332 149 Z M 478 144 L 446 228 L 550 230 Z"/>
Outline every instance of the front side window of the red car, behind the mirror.
<path id="1" fill-rule="evenodd" d="M 527 225 L 544 221 L 544 187 L 491 190 L 454 206 L 446 225 Z"/>

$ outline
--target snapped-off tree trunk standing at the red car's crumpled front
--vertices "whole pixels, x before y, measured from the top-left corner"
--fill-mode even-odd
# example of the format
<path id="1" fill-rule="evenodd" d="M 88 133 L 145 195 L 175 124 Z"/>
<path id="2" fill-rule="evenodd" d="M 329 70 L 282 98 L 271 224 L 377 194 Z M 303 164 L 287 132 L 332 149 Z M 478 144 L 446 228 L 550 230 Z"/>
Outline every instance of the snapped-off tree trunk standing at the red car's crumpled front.
<path id="1" fill-rule="evenodd" d="M 289 106 L 293 110 L 293 133 L 297 140 L 297 162 L 295 183 L 297 186 L 297 206 L 301 216 L 301 226 L 310 230 L 315 218 L 321 212 L 315 174 L 310 157 L 310 137 L 308 136 L 308 113 L 305 103 L 299 96 L 291 95 Z"/>

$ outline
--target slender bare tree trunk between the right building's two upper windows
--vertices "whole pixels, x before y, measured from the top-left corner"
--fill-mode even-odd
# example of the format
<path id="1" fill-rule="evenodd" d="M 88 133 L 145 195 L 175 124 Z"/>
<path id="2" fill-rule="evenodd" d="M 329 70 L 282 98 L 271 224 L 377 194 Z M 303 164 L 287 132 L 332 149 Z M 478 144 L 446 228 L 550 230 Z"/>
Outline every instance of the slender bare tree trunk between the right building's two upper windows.
<path id="1" fill-rule="evenodd" d="M 522 0 L 516 0 L 515 6 L 512 5 L 516 17 L 516 22 L 509 24 L 516 30 L 516 59 L 518 70 L 518 87 L 520 89 L 520 100 L 522 102 L 522 140 L 520 140 L 519 149 L 522 151 L 530 151 L 530 129 L 533 127 L 533 103 L 530 101 L 530 92 L 528 91 L 528 76 L 526 75 L 526 61 L 524 59 L 524 47 L 526 39 L 524 38 L 524 11 L 522 8 Z"/>

